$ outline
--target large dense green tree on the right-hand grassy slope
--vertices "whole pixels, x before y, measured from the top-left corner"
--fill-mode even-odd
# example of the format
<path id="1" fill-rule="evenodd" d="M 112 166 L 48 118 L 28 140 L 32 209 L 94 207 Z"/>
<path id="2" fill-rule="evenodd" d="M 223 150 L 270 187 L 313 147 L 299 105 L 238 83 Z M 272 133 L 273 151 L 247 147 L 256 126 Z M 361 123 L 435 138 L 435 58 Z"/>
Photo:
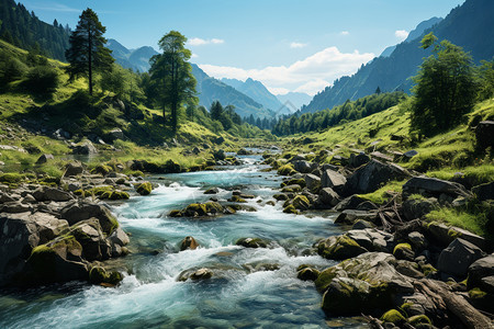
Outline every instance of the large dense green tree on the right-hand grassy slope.
<path id="1" fill-rule="evenodd" d="M 473 109 L 476 98 L 471 56 L 448 41 L 437 44 L 430 32 L 423 38 L 422 47 L 433 46 L 433 55 L 413 78 L 417 84 L 413 88 L 412 127 L 425 136 L 458 124 Z"/>

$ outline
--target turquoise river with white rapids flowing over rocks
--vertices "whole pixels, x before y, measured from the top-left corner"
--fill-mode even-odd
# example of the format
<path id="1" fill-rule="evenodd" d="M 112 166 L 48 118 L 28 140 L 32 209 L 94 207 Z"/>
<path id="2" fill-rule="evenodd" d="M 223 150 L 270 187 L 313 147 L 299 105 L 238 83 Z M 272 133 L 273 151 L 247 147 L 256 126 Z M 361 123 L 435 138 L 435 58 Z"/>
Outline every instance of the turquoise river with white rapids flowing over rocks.
<path id="1" fill-rule="evenodd" d="M 122 227 L 132 234 L 132 254 L 110 261 L 126 269 L 116 288 L 69 283 L 0 293 L 0 328 L 321 328 L 328 320 L 314 283 L 296 279 L 296 268 L 334 264 L 310 252 L 322 237 L 339 234 L 332 216 L 288 215 L 272 200 L 281 178 L 243 157 L 240 167 L 155 177 L 159 188 L 114 205 Z M 207 201 L 205 189 L 233 189 L 256 195 L 257 212 L 214 219 L 167 218 L 171 209 Z M 186 236 L 201 247 L 179 252 Z M 270 248 L 235 246 L 243 237 L 271 241 Z M 211 280 L 178 282 L 184 270 L 207 268 Z M 267 271 L 271 270 L 271 271 Z M 341 327 L 359 322 L 338 320 Z"/>

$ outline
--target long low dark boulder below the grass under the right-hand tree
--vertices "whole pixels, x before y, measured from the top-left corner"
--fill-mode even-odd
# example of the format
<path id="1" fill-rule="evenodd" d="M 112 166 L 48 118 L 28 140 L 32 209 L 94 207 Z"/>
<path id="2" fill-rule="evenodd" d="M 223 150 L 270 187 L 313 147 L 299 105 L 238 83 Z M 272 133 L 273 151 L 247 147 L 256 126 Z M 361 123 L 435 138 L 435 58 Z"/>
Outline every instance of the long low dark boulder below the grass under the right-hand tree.
<path id="1" fill-rule="evenodd" d="M 418 193 L 424 196 L 439 197 L 441 194 L 456 196 L 470 196 L 470 193 L 459 183 L 445 181 L 426 175 L 414 177 L 403 185 L 403 194 Z"/>

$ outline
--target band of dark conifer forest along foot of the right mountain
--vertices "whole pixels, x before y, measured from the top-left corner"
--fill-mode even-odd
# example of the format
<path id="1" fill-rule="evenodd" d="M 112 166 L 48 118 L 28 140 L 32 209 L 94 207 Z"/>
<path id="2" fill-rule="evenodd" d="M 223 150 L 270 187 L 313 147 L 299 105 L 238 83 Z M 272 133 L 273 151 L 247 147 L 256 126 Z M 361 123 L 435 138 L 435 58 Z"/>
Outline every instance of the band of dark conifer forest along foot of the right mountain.
<path id="1" fill-rule="evenodd" d="M 396 105 L 405 98 L 406 95 L 403 92 L 379 93 L 364 97 L 353 102 L 347 100 L 345 104 L 335 106 L 332 110 L 327 109 L 302 115 L 295 113 L 290 117 L 280 120 L 273 127 L 272 133 L 281 136 L 325 129 L 381 112 Z"/>

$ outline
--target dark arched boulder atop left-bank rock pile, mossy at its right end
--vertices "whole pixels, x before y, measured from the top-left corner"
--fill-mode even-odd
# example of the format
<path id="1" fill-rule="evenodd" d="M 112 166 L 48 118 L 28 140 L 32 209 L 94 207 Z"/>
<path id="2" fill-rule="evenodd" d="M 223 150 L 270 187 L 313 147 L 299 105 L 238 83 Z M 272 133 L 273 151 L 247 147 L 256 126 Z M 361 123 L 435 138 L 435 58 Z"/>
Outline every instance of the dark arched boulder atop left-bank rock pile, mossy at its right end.
<path id="1" fill-rule="evenodd" d="M 80 201 L 70 203 L 60 211 L 60 218 L 67 219 L 70 225 L 92 217 L 98 218 L 106 235 L 111 235 L 119 227 L 116 218 L 101 204 Z"/>

